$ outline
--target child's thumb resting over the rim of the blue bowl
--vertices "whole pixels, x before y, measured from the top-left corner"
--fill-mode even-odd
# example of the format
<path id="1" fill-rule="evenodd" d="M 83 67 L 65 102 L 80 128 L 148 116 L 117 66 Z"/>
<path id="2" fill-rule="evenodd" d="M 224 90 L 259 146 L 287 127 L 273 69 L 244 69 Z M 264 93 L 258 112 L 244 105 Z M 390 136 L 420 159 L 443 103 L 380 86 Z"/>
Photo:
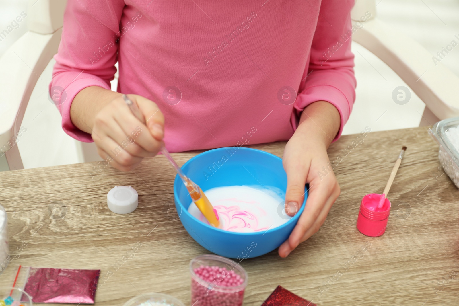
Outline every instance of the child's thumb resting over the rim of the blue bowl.
<path id="1" fill-rule="evenodd" d="M 291 217 L 295 216 L 304 200 L 304 186 L 308 171 L 299 171 L 297 167 L 285 169 L 287 173 L 287 191 L 285 192 L 285 211 Z"/>

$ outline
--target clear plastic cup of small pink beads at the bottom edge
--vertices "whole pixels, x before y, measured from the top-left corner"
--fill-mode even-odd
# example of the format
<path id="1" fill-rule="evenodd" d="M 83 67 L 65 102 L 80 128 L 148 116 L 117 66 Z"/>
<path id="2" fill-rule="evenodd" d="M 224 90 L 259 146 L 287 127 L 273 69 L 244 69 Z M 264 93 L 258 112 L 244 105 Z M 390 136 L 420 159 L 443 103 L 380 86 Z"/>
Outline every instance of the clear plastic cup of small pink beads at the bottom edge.
<path id="1" fill-rule="evenodd" d="M 197 256 L 190 262 L 191 305 L 241 306 L 248 276 L 236 262 L 217 255 Z"/>

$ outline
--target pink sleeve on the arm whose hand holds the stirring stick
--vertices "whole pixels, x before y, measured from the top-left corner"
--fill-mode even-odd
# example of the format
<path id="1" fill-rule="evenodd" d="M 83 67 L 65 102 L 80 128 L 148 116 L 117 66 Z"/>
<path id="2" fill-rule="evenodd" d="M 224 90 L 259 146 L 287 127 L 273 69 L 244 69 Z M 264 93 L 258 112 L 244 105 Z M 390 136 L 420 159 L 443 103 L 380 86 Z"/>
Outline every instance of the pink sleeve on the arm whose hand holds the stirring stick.
<path id="1" fill-rule="evenodd" d="M 123 0 L 67 1 L 49 93 L 61 112 L 63 130 L 80 141 L 92 141 L 91 135 L 73 125 L 70 106 L 86 87 L 110 89 L 118 60 L 117 33 L 123 7 Z"/>

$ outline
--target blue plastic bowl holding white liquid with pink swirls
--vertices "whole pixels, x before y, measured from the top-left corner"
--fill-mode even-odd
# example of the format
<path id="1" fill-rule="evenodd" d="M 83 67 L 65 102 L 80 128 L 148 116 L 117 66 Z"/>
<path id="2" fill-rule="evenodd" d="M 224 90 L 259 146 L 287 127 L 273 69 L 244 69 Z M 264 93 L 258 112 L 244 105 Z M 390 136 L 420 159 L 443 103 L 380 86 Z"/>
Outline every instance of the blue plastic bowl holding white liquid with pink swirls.
<path id="1" fill-rule="evenodd" d="M 244 147 L 208 150 L 187 161 L 182 170 L 204 191 L 233 185 L 274 186 L 284 194 L 287 189 L 282 160 L 262 150 Z M 308 197 L 306 188 L 304 191 L 300 211 L 283 225 L 266 232 L 235 233 L 214 228 L 191 216 L 188 212 L 192 201 L 190 194 L 179 175 L 174 181 L 175 207 L 188 234 L 207 250 L 237 259 L 266 254 L 278 248 L 289 237 L 304 210 Z"/>

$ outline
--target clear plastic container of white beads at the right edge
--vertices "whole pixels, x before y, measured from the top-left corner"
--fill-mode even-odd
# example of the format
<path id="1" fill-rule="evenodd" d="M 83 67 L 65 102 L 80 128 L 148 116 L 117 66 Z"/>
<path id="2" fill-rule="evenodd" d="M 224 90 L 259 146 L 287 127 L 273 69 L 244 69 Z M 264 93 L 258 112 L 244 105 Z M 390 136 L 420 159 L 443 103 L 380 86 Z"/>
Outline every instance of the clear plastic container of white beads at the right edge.
<path id="1" fill-rule="evenodd" d="M 459 117 L 455 117 L 439 121 L 432 128 L 429 128 L 429 134 L 440 146 L 438 159 L 442 164 L 443 170 L 457 188 L 459 188 L 459 151 L 454 147 L 452 139 L 447 135 L 447 131 L 458 126 Z"/>

